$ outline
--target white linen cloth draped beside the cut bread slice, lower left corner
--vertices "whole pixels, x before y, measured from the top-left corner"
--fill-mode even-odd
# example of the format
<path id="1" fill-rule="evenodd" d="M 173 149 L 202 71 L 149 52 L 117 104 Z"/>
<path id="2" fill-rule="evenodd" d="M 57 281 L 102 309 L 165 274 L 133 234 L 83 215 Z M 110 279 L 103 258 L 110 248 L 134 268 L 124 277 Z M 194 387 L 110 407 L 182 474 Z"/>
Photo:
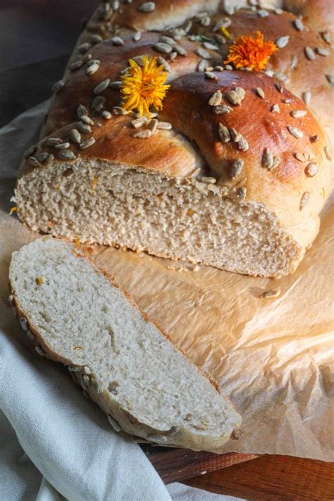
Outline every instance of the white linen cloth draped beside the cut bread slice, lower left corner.
<path id="1" fill-rule="evenodd" d="M 11 180 L 23 150 L 37 140 L 46 109 L 47 103 L 36 106 L 0 130 L 2 211 L 8 211 Z M 7 280 L 4 273 L 1 280 Z M 140 447 L 111 429 L 68 372 L 32 354 L 22 339 L 1 300 L 1 501 L 236 500 L 180 483 L 166 488 Z"/>

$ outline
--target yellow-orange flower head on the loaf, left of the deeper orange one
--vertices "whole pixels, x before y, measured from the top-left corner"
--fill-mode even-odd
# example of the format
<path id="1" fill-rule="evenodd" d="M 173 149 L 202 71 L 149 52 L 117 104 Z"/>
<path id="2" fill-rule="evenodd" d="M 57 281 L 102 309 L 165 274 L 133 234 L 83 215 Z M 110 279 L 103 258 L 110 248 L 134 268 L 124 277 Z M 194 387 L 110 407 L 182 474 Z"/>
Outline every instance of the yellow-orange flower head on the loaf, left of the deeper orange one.
<path id="1" fill-rule="evenodd" d="M 169 85 L 165 85 L 167 72 L 163 66 L 156 66 L 157 58 L 144 56 L 142 68 L 133 59 L 129 59 L 130 68 L 120 77 L 122 86 L 120 94 L 123 97 L 123 109 L 137 109 L 140 115 L 148 115 L 149 107 L 162 109 L 162 101 Z"/>

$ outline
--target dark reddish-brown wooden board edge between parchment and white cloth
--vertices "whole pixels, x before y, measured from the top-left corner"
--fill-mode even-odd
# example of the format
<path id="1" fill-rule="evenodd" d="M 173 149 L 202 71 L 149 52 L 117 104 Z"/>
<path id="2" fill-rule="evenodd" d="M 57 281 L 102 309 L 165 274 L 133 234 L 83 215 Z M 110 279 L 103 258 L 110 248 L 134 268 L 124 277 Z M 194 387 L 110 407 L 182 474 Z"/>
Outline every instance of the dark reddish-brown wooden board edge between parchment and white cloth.
<path id="1" fill-rule="evenodd" d="M 185 480 L 216 471 L 226 466 L 249 461 L 259 457 L 255 454 L 213 454 L 212 452 L 194 452 L 187 449 L 171 449 L 168 447 L 151 447 L 142 445 L 142 449 L 165 483 Z"/>

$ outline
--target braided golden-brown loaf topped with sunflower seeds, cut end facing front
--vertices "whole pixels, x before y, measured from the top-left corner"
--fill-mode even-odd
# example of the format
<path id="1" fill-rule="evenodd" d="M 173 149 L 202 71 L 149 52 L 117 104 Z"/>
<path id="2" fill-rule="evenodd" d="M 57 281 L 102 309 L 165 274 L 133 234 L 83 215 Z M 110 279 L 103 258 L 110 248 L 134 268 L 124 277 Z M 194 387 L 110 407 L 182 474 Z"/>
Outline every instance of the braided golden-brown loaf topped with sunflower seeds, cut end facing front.
<path id="1" fill-rule="evenodd" d="M 99 6 L 23 162 L 26 225 L 253 276 L 295 270 L 333 187 L 330 25 L 319 32 L 326 16 L 319 28 L 303 2 L 289 8 L 308 24 L 282 4 L 237 4 Z M 273 48 L 264 69 L 227 62 L 254 31 Z M 170 87 L 142 117 L 124 110 L 120 87 L 144 56 Z"/>

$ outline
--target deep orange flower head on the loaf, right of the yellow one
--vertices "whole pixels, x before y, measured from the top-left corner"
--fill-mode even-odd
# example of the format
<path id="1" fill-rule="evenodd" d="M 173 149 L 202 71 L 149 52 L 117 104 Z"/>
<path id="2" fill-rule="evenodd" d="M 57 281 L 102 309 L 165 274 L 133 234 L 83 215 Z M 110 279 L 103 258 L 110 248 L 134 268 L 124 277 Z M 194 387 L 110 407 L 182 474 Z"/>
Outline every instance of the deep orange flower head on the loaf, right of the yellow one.
<path id="1" fill-rule="evenodd" d="M 244 35 L 235 40 L 230 46 L 228 58 L 224 63 L 233 63 L 235 68 L 251 68 L 264 70 L 268 58 L 276 52 L 278 47 L 273 42 L 265 42 L 264 34 L 257 31 L 254 35 Z"/>

